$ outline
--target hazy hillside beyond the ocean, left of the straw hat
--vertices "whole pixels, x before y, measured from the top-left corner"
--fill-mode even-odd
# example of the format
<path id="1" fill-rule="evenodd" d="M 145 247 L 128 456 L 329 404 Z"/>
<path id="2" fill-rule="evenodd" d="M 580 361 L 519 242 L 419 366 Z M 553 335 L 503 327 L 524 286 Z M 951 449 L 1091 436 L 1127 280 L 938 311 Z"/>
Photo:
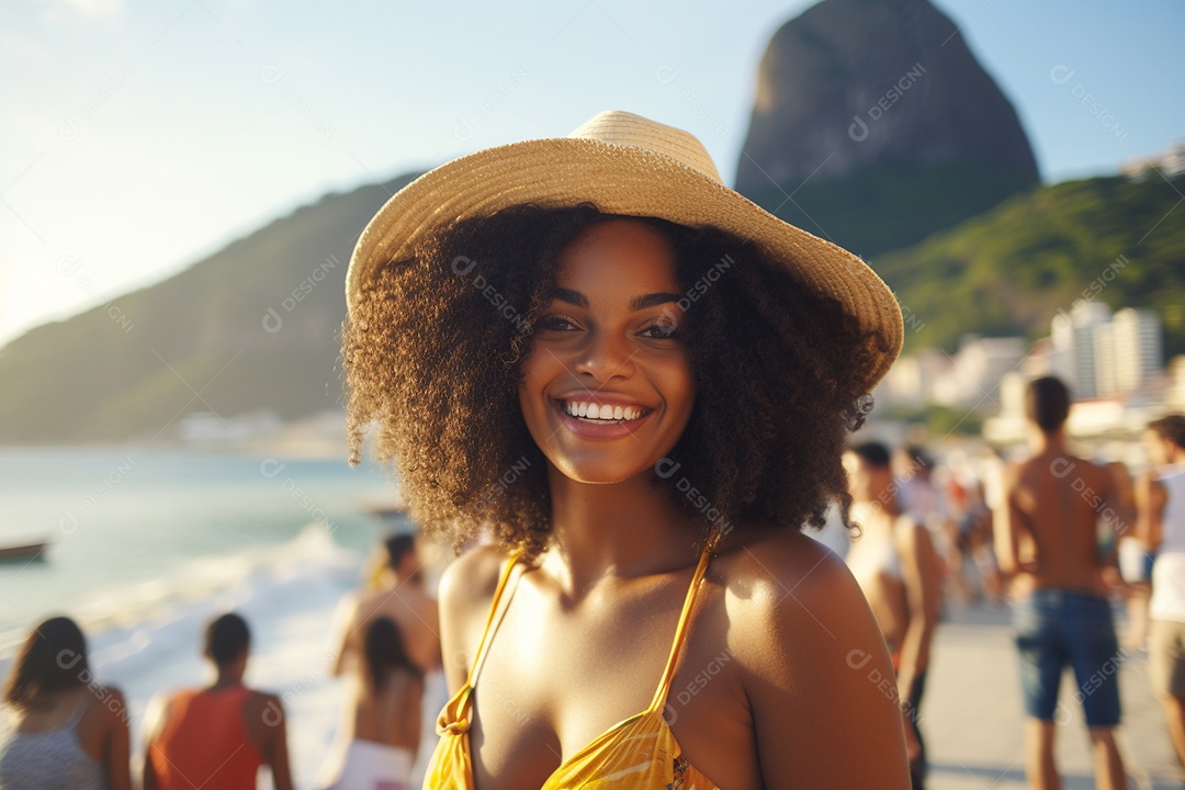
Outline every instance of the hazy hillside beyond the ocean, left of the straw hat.
<path id="1" fill-rule="evenodd" d="M 290 419 L 333 407 L 350 253 L 411 178 L 326 195 L 0 348 L 0 443 L 167 437 L 185 412 Z"/>

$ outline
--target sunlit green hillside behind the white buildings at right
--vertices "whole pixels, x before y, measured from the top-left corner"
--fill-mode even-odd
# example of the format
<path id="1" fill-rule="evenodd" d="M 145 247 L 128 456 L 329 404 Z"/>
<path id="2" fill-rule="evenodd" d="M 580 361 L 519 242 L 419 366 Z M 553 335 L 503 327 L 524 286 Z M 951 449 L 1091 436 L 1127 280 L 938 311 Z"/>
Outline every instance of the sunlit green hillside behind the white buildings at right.
<path id="1" fill-rule="evenodd" d="M 1160 314 L 1185 353 L 1185 175 L 1038 187 L 870 264 L 897 294 L 908 347 L 954 351 L 965 333 L 1049 333 L 1076 300 Z"/>

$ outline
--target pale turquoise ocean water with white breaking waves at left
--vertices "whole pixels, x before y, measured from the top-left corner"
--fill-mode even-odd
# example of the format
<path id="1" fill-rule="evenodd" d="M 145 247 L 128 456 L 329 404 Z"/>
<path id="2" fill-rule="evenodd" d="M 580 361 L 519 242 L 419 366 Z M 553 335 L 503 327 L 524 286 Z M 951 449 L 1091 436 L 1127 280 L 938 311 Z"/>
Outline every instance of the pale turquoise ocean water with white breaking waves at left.
<path id="1" fill-rule="evenodd" d="M 0 677 L 33 625 L 73 617 L 97 680 L 128 696 L 142 754 L 148 701 L 209 681 L 201 629 L 238 611 L 246 682 L 282 695 L 296 783 L 312 788 L 340 719 L 333 612 L 390 528 L 366 508 L 392 492 L 344 458 L 0 450 L 0 545 L 50 541 L 44 560 L 0 564 Z"/>

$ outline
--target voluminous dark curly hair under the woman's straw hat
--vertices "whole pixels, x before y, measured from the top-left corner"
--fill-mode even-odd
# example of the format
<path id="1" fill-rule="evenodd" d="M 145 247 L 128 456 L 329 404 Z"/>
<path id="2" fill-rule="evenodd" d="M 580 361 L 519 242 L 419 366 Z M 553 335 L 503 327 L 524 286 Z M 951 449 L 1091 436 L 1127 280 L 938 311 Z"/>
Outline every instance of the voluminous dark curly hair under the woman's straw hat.
<path id="1" fill-rule="evenodd" d="M 520 364 L 561 253 L 609 219 L 584 204 L 461 220 L 356 295 L 342 327 L 350 461 L 376 424 L 374 452 L 396 462 L 428 533 L 459 546 L 488 528 L 506 548 L 546 546 L 546 461 L 519 407 Z M 696 371 L 687 429 L 652 486 L 705 537 L 742 522 L 819 527 L 832 502 L 848 525 L 840 456 L 871 406 L 860 373 L 884 351 L 877 338 L 739 238 L 628 219 L 674 245 Z"/>

